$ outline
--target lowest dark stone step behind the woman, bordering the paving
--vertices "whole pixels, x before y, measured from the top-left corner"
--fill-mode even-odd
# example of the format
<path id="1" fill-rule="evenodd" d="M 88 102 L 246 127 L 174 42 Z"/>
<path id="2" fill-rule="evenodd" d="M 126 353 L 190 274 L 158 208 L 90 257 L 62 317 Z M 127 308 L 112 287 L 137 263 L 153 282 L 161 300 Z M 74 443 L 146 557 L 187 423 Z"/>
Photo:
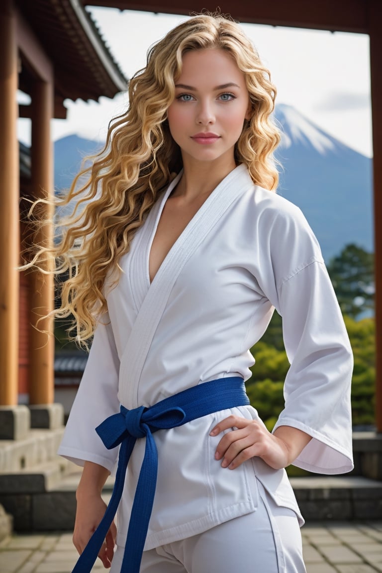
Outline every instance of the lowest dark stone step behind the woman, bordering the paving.
<path id="1" fill-rule="evenodd" d="M 15 531 L 73 531 L 76 488 L 81 468 L 68 465 L 66 473 L 44 491 L 0 494 L 0 503 L 13 515 Z M 290 478 L 302 515 L 308 523 L 317 520 L 352 521 L 382 519 L 382 482 L 356 476 Z M 113 478 L 105 484 L 108 503 Z"/>

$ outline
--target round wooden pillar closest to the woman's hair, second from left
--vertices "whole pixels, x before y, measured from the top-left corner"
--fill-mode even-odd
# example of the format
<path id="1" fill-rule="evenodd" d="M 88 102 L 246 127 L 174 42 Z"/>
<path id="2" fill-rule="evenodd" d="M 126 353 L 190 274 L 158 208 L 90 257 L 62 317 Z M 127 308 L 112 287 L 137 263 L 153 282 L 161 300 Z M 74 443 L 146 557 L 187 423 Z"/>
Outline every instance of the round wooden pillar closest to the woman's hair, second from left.
<path id="1" fill-rule="evenodd" d="M 50 121 L 53 117 L 53 85 L 36 81 L 31 93 L 31 178 L 35 198 L 45 198 L 53 193 L 53 143 L 50 138 Z M 39 211 L 52 221 L 52 207 Z M 36 236 L 38 244 L 51 245 L 52 225 L 40 227 Z M 53 262 L 46 264 L 52 269 Z M 34 271 L 31 281 L 31 321 L 37 328 L 30 331 L 29 403 L 48 405 L 54 399 L 54 337 L 53 320 L 45 317 L 53 310 L 54 286 L 52 274 Z"/>

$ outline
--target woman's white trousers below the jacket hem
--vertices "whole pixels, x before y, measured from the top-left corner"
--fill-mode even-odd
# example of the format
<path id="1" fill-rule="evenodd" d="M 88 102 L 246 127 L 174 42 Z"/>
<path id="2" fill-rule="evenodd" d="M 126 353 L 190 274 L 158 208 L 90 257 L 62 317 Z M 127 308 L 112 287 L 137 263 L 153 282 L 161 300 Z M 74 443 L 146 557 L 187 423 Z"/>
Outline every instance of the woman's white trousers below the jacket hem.
<path id="1" fill-rule="evenodd" d="M 117 546 L 110 573 L 121 571 Z M 300 526 L 259 484 L 257 511 L 143 552 L 140 573 L 306 573 Z"/>

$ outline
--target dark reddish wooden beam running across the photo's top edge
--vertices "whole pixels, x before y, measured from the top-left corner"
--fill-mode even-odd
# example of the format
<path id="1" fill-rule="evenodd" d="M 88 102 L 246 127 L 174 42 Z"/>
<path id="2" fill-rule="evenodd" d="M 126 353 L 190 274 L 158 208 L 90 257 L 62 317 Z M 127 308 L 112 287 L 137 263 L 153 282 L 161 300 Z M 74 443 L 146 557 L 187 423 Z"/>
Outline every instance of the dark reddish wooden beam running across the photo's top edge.
<path id="1" fill-rule="evenodd" d="M 368 32 L 369 0 L 220 0 L 221 13 L 231 14 L 240 22 L 313 28 L 341 32 Z M 108 6 L 120 10 L 143 10 L 170 14 L 216 10 L 216 0 L 85 0 L 84 5 Z"/>

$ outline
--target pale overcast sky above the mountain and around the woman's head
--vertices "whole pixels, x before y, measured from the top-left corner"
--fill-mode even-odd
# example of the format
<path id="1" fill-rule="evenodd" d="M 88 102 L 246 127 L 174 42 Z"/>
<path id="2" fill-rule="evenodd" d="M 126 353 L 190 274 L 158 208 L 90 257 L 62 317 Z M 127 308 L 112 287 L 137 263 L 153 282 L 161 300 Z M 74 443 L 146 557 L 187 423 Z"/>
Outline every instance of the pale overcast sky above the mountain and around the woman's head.
<path id="1" fill-rule="evenodd" d="M 148 47 L 184 16 L 92 8 L 121 69 L 130 77 L 145 65 Z M 364 34 L 242 24 L 277 87 L 277 103 L 293 105 L 319 127 L 364 155 L 372 155 L 369 38 Z M 125 95 L 99 103 L 66 101 L 68 119 L 53 121 L 53 139 L 78 134 L 104 139 L 108 121 L 123 111 Z M 29 120 L 19 120 L 29 144 Z"/>

